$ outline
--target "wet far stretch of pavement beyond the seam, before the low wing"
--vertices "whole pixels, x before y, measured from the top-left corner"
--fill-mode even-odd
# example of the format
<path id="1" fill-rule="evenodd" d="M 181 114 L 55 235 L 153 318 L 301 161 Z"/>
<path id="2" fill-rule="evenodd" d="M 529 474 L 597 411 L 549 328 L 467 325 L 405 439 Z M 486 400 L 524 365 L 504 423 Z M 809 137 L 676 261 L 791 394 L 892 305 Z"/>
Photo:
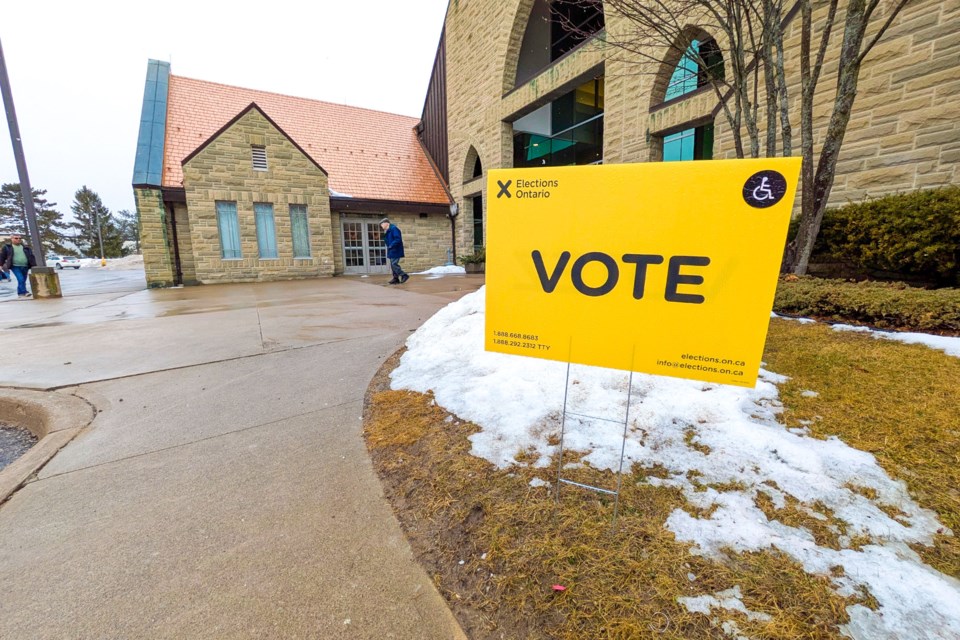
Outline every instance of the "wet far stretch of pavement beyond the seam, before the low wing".
<path id="1" fill-rule="evenodd" d="M 0 369 L 0 385 L 55 388 L 383 330 L 410 332 L 436 305 L 483 283 L 483 276 L 413 276 L 392 287 L 388 279 L 206 285 L 8 303 L 0 314 L 0 341 L 14 354 L 30 355 Z M 411 315 L 410 294 L 431 299 L 431 311 Z"/>

